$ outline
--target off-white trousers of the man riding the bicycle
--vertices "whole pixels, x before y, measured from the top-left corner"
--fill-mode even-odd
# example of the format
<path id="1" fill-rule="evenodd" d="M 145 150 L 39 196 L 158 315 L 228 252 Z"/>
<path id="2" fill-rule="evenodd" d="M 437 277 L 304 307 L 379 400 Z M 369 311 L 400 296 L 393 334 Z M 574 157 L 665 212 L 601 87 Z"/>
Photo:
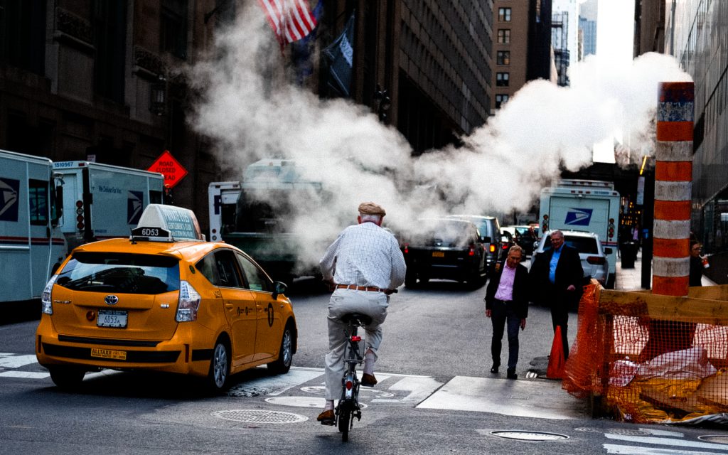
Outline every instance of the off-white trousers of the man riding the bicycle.
<path id="1" fill-rule="evenodd" d="M 336 289 L 328 302 L 328 349 L 326 355 L 326 400 L 341 397 L 341 378 L 344 376 L 344 352 L 347 347 L 347 324 L 341 317 L 347 313 L 362 313 L 371 317 L 364 327 L 366 348 L 374 351 L 381 343 L 381 323 L 387 318 L 389 296 L 370 290 Z M 366 352 L 366 349 L 364 349 Z"/>

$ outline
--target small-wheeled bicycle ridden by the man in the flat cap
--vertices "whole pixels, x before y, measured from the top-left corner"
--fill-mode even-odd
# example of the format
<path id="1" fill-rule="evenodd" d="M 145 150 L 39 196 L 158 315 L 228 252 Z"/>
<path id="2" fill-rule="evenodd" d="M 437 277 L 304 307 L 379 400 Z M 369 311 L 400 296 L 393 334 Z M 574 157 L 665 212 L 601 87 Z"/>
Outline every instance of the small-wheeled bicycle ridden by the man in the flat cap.
<path id="1" fill-rule="evenodd" d="M 362 418 L 357 365 L 364 362 L 364 356 L 359 345 L 362 337 L 357 331 L 361 326 L 371 324 L 371 317 L 366 314 L 349 313 L 344 314 L 341 320 L 349 325 L 349 332 L 344 331 L 344 336 L 347 337 L 347 349 L 344 354 L 344 376 L 341 378 L 341 399 L 334 413 L 336 419 L 334 424 L 341 432 L 341 440 L 347 442 L 349 430 L 354 427 L 354 419 Z"/>

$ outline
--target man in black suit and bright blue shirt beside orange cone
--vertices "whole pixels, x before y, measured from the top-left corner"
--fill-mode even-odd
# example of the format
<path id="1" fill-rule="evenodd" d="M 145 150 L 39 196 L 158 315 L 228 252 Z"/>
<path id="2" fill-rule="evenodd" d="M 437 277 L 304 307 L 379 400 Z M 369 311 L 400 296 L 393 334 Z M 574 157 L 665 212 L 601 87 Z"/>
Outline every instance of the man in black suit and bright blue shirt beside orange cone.
<path id="1" fill-rule="evenodd" d="M 551 307 L 553 331 L 561 326 L 563 357 L 569 357 L 569 338 L 566 335 L 569 325 L 569 308 L 578 306 L 583 292 L 584 269 L 579 251 L 563 243 L 563 232 L 551 232 L 551 247 L 539 254 L 531 265 L 533 289 L 539 296 L 531 298 L 538 301 L 545 298 Z"/>

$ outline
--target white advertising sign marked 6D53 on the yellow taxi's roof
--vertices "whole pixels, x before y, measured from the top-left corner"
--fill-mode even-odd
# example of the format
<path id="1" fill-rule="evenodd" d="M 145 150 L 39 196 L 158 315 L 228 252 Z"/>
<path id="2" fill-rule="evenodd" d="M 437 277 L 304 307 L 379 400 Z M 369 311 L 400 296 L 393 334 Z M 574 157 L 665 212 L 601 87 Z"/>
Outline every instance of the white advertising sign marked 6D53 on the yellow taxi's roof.
<path id="1" fill-rule="evenodd" d="M 174 205 L 149 204 L 132 229 L 129 240 L 147 242 L 204 242 L 197 216 L 192 210 Z"/>

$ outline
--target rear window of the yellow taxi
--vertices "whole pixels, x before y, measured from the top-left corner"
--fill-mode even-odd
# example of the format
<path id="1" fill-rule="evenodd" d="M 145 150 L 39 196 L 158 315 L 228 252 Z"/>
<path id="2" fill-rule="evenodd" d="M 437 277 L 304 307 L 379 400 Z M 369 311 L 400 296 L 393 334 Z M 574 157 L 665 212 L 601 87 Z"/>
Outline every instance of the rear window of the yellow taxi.
<path id="1" fill-rule="evenodd" d="M 160 294 L 179 290 L 179 261 L 145 254 L 75 253 L 56 284 L 88 292 Z"/>

